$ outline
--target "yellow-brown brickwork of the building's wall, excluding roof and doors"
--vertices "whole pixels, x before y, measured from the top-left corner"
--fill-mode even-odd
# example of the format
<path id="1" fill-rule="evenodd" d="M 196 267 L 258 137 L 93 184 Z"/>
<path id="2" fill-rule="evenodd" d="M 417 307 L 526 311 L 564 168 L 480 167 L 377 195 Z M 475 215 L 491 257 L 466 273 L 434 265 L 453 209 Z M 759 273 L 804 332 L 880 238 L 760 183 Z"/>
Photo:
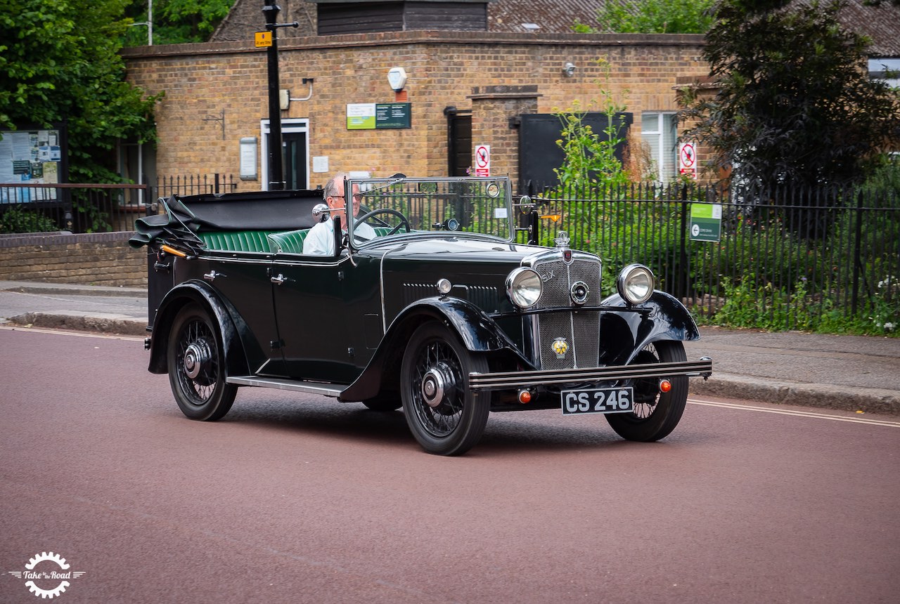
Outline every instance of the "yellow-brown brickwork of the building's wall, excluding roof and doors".
<path id="1" fill-rule="evenodd" d="M 610 64 L 608 86 L 635 113 L 675 111 L 679 76 L 708 73 L 698 35 L 518 34 L 404 31 L 279 40 L 280 84 L 306 96 L 302 78 L 314 78 L 312 97 L 291 102 L 282 119 L 310 120 L 309 155 L 329 157 L 329 173 L 311 173 L 311 186 L 330 173 L 366 170 L 374 176 L 402 172 L 446 173 L 446 106 L 473 110 L 480 144 L 491 145 L 495 174 L 515 176 L 518 138 L 510 111 L 550 113 L 598 97 Z M 157 173 L 238 173 L 238 141 L 260 137 L 268 117 L 266 52 L 252 40 L 124 49 L 129 79 L 148 93 L 166 92 L 157 108 Z M 574 77 L 563 65 L 577 66 Z M 349 102 L 394 102 L 391 67 L 409 75 L 411 129 L 347 130 Z M 529 99 L 486 98 L 476 91 L 509 86 L 534 90 Z M 224 111 L 225 138 L 218 118 Z M 262 153 L 262 145 L 258 149 Z M 261 157 L 257 157 L 261 172 Z M 311 165 L 310 165 L 311 169 Z M 261 188 L 241 182 L 238 191 Z"/>

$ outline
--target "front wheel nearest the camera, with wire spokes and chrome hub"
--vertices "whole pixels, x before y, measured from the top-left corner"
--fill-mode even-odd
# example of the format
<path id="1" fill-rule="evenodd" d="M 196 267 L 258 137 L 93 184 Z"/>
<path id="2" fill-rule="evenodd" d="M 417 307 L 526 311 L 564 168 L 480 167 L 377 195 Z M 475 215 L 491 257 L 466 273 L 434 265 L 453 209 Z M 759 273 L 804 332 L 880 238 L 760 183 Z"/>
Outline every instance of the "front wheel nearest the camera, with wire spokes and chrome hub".
<path id="1" fill-rule="evenodd" d="M 473 394 L 469 373 L 487 370 L 487 360 L 468 351 L 443 324 L 422 324 L 412 334 L 403 353 L 401 396 L 406 422 L 422 449 L 461 455 L 482 438 L 491 398 Z"/>

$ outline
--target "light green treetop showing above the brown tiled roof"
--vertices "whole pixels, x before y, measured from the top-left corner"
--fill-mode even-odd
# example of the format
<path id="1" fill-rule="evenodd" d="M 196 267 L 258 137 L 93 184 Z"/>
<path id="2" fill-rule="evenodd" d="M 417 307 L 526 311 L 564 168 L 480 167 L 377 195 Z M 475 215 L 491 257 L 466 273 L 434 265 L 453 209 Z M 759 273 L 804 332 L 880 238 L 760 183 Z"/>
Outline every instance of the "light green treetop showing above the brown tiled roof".
<path id="1" fill-rule="evenodd" d="M 581 33 L 706 33 L 716 0 L 607 0 L 597 11 L 599 27 L 576 21 Z"/>

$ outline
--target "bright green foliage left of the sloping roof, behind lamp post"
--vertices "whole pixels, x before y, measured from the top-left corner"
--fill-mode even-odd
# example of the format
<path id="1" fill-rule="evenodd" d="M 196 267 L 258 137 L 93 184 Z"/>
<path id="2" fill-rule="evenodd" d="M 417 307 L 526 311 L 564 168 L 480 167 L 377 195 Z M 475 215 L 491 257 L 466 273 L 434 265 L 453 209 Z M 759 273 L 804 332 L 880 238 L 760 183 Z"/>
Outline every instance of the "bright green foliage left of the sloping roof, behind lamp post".
<path id="1" fill-rule="evenodd" d="M 131 0 L 126 14 L 135 22 L 147 22 L 148 0 Z M 153 3 L 153 43 L 205 42 L 231 10 L 234 0 L 156 0 Z M 262 11 L 263 3 L 259 3 Z M 259 13 L 262 22 L 262 13 Z M 147 28 L 132 27 L 126 46 L 147 44 Z"/>

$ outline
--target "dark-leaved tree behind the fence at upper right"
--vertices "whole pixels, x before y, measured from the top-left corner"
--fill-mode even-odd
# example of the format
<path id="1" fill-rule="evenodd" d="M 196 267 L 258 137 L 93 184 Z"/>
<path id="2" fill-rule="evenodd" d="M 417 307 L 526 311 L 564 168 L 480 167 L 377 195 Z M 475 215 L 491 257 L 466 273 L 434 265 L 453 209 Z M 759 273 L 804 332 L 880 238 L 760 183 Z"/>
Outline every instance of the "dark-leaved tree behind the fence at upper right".
<path id="1" fill-rule="evenodd" d="M 747 182 L 845 184 L 900 139 L 900 97 L 869 79 L 868 40 L 842 29 L 839 1 L 723 0 L 704 57 L 714 96 L 687 93 L 684 135 Z"/>

